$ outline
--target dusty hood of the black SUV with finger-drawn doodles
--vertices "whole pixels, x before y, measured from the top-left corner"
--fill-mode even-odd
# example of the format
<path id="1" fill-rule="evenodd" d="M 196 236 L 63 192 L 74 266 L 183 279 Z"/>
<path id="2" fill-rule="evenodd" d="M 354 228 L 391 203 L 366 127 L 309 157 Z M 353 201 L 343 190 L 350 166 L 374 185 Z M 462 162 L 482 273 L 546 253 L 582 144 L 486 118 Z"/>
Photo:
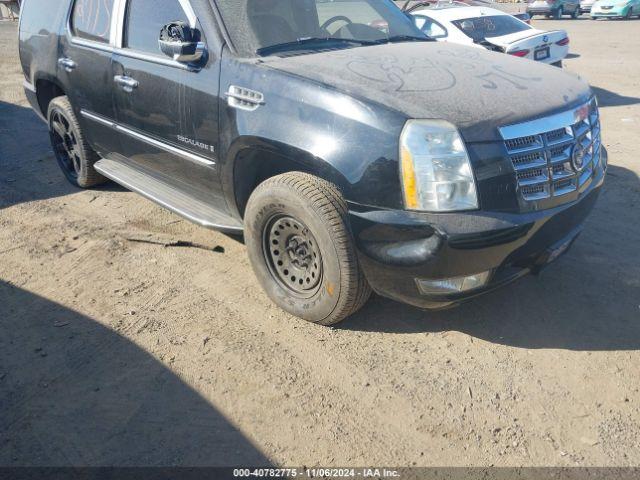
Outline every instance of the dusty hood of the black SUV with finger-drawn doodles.
<path id="1" fill-rule="evenodd" d="M 447 120 L 467 142 L 499 140 L 498 127 L 569 109 L 591 95 L 586 82 L 559 68 L 437 42 L 261 60 L 408 118 Z"/>

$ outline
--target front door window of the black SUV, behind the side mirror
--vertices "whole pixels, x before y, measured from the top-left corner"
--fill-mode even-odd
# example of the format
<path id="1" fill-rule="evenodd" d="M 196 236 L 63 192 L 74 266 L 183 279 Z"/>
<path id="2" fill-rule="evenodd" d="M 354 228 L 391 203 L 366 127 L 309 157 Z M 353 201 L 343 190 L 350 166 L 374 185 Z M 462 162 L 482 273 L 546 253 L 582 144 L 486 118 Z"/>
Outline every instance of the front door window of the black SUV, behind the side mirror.
<path id="1" fill-rule="evenodd" d="M 124 46 L 160 55 L 160 30 L 175 21 L 189 23 L 178 0 L 129 0 Z"/>

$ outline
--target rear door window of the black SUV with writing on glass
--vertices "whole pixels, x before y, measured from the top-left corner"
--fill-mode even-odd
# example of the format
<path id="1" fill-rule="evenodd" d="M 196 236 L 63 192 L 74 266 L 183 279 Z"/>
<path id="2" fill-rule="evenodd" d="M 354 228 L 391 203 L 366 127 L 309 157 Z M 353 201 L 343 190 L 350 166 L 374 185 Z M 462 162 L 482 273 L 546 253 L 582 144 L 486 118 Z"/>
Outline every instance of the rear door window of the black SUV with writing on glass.
<path id="1" fill-rule="evenodd" d="M 109 43 L 114 1 L 76 0 L 71 15 L 73 34 L 87 40 Z"/>

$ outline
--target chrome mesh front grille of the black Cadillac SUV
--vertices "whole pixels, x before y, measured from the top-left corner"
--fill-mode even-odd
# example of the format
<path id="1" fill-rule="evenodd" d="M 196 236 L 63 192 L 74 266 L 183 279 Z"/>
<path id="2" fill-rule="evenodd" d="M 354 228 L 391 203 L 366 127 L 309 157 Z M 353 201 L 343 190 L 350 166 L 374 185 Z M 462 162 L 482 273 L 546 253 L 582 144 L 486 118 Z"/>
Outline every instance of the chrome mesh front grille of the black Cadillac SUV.
<path id="1" fill-rule="evenodd" d="M 568 112 L 503 127 L 500 133 L 525 201 L 561 197 L 580 189 L 600 162 L 595 99 Z M 582 166 L 578 149 L 584 154 Z"/>

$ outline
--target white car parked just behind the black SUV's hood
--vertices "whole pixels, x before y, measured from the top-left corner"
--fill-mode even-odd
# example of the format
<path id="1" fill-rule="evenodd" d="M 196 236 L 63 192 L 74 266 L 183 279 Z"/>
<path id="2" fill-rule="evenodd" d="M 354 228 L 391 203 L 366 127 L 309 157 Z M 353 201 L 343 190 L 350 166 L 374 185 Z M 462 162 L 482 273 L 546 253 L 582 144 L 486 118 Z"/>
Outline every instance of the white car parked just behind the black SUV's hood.
<path id="1" fill-rule="evenodd" d="M 569 53 L 564 30 L 537 30 L 493 8 L 447 3 L 415 8 L 410 13 L 420 30 L 440 42 L 486 48 L 557 67 Z"/>

